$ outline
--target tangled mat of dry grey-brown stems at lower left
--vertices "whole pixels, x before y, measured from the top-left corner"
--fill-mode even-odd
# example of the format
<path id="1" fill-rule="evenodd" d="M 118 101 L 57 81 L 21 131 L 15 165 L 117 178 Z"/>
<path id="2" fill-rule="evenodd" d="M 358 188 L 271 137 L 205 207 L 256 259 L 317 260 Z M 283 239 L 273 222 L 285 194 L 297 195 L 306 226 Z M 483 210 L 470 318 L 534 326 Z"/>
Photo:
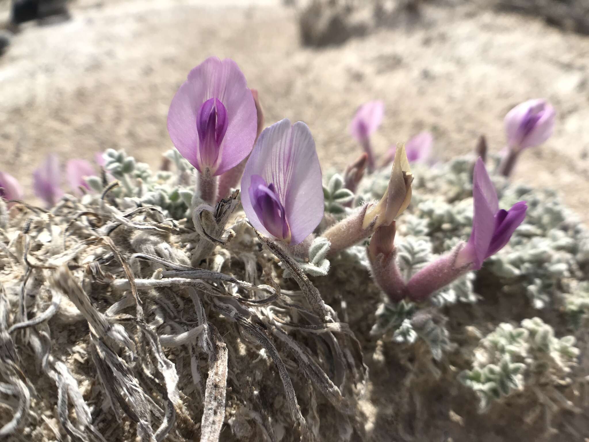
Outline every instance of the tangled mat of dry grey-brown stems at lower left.
<path id="1" fill-rule="evenodd" d="M 237 194 L 178 223 L 122 212 L 109 189 L 50 212 L 17 203 L 10 219 L 1 203 L 1 436 L 362 433 L 358 341 L 280 245 L 243 222 L 226 231 Z M 277 260 L 303 296 L 281 290 Z"/>

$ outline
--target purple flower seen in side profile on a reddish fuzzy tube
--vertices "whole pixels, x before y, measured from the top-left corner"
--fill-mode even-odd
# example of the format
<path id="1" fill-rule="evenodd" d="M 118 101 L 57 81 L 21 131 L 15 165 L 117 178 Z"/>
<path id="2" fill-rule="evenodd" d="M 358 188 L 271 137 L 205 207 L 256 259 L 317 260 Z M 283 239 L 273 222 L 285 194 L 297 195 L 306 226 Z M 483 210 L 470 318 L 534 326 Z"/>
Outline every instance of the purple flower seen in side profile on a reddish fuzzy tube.
<path id="1" fill-rule="evenodd" d="M 499 209 L 497 192 L 480 158 L 472 178 L 472 198 L 471 237 L 458 253 L 458 262 L 471 262 L 472 269 L 480 269 L 485 259 L 507 244 L 515 229 L 524 221 L 528 207 L 520 201 L 509 210 Z"/>

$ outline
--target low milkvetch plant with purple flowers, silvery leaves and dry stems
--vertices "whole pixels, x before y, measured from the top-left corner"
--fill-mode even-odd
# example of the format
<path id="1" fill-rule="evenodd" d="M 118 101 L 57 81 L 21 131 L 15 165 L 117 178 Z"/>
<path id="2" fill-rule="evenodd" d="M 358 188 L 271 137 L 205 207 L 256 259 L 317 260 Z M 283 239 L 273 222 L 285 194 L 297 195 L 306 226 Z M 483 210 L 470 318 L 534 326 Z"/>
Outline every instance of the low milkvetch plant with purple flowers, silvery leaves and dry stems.
<path id="1" fill-rule="evenodd" d="M 52 157 L 35 174 L 48 211 L 7 210 L 22 192 L 0 173 L 0 436 L 367 441 L 373 395 L 415 440 L 439 436 L 423 424 L 439 407 L 471 433 L 515 416 L 532 438 L 583 415 L 587 338 L 557 335 L 589 316 L 589 232 L 557 193 L 509 183 L 485 141 L 432 164 L 428 133 L 380 169 L 368 143 L 323 174 L 310 128 L 262 131 L 259 101 L 211 58 L 173 99 L 161 170 L 109 149 L 100 176 L 70 160 L 60 197 Z M 362 142 L 380 111 L 359 113 Z M 510 149 L 545 137 L 523 129 L 537 111 L 518 117 L 534 142 Z"/>

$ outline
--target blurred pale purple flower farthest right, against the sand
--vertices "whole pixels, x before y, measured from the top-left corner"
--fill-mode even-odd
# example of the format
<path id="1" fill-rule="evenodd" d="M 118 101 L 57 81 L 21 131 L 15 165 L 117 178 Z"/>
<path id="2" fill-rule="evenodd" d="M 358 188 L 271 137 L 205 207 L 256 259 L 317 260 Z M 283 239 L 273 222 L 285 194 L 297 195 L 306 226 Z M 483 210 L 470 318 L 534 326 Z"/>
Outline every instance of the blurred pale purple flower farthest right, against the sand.
<path id="1" fill-rule="evenodd" d="M 505 116 L 507 144 L 511 149 L 526 149 L 548 140 L 554 129 L 554 107 L 545 100 L 518 104 Z"/>

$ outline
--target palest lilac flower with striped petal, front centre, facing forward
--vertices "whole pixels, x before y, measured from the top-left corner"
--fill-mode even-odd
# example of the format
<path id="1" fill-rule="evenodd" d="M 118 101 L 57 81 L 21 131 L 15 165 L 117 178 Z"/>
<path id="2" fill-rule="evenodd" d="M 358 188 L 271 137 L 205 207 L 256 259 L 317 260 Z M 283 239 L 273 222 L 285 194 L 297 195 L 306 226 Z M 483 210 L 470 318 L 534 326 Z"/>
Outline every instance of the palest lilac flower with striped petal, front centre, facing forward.
<path id="1" fill-rule="evenodd" d="M 262 131 L 243 171 L 241 204 L 257 230 L 291 245 L 319 225 L 321 167 L 305 123 L 285 118 Z"/>

